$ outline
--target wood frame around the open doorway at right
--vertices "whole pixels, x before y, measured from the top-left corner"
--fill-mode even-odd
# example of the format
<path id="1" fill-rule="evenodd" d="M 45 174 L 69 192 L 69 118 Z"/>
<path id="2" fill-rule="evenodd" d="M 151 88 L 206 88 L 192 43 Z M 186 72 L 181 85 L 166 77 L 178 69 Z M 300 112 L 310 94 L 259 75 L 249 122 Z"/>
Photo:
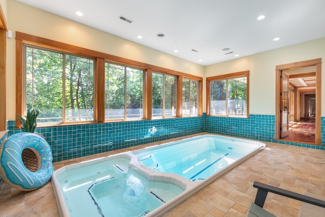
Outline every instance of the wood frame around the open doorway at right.
<path id="1" fill-rule="evenodd" d="M 316 66 L 316 117 L 315 117 L 315 144 L 321 145 L 320 112 L 321 112 L 321 58 L 300 61 L 297 63 L 278 65 L 275 67 L 275 139 L 280 139 L 280 75 L 282 70 Z"/>

